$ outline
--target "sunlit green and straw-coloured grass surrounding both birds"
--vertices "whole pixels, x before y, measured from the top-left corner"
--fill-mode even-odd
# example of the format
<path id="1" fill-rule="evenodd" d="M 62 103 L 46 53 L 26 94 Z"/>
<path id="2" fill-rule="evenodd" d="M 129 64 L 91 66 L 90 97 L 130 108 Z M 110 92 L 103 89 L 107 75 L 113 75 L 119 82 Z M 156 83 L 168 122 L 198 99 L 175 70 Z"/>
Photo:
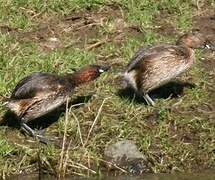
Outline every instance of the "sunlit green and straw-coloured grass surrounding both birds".
<path id="1" fill-rule="evenodd" d="M 210 10 L 213 1 L 205 1 L 204 7 Z M 4 1 L 0 7 L 0 94 L 9 96 L 20 79 L 35 71 L 63 74 L 92 63 L 109 64 L 113 69 L 80 87 L 72 97 L 81 98 L 84 105 L 62 113 L 47 129 L 47 135 L 60 142 L 65 133 L 65 149 L 71 141 L 71 149 L 64 151 L 64 169 L 59 160 L 61 148 L 31 142 L 18 130 L 1 126 L 2 177 L 38 169 L 57 175 L 59 167 L 66 174 L 99 175 L 104 171 L 105 146 L 121 139 L 136 142 L 153 162 L 153 172 L 214 168 L 214 95 L 208 90 L 213 78 L 200 61 L 207 57 L 204 52 L 196 52 L 196 64 L 180 77 L 196 86 L 184 88 L 181 97 L 156 99 L 155 107 L 133 96 L 119 96 L 115 80 L 140 46 L 173 43 L 175 34 L 192 29 L 192 17 L 198 13 L 191 1 L 182 0 Z M 86 16 L 87 23 L 83 18 L 64 19 L 78 14 Z M 163 35 L 160 26 L 169 25 L 175 32 L 166 30 L 168 35 Z M 5 33 L 3 26 L 9 31 Z M 44 48 L 50 37 L 61 42 L 60 48 Z M 87 50 L 104 39 L 107 42 Z M 0 106 L 2 116 L 5 111 Z"/>

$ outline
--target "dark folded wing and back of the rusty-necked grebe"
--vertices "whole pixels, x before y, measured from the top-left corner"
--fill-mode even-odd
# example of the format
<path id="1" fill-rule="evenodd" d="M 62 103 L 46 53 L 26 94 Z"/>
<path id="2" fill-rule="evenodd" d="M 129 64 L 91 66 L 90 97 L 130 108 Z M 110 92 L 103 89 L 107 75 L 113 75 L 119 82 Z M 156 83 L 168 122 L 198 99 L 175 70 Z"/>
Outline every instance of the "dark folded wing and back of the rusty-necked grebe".
<path id="1" fill-rule="evenodd" d="M 68 91 L 68 84 L 61 76 L 36 72 L 23 78 L 12 92 L 11 99 L 28 99 L 38 94 L 52 94 Z"/>

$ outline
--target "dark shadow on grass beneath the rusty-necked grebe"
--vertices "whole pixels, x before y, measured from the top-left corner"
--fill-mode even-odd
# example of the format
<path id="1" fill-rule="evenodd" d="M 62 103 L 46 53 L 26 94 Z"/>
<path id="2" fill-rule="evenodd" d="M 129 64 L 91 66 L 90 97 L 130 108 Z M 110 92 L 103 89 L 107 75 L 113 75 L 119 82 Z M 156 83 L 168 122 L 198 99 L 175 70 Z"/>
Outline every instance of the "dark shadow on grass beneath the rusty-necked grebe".
<path id="1" fill-rule="evenodd" d="M 72 100 L 69 103 L 69 106 L 72 106 L 75 104 L 80 104 L 80 105 L 73 107 L 73 108 L 77 109 L 77 108 L 83 106 L 84 103 L 87 103 L 91 99 L 91 97 L 92 97 L 92 95 L 78 96 L 76 99 Z M 32 129 L 37 129 L 37 130 L 45 129 L 45 128 L 49 127 L 50 125 L 52 125 L 54 122 L 56 122 L 60 118 L 61 114 L 63 112 L 65 112 L 65 109 L 66 109 L 66 105 L 62 105 L 58 109 L 56 109 L 42 117 L 34 119 L 34 120 L 28 122 L 27 124 Z M 11 128 L 20 129 L 19 119 L 13 112 L 7 111 L 3 116 L 3 120 L 0 124 L 0 126 L 9 126 Z"/>

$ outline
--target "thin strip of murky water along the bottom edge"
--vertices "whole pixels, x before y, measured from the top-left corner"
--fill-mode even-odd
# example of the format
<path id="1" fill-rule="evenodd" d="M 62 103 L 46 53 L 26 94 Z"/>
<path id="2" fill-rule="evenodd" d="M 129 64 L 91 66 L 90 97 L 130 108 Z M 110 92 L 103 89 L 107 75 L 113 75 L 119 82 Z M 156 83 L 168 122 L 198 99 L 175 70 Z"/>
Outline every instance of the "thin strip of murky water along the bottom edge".
<path id="1" fill-rule="evenodd" d="M 8 180 L 53 180 L 56 179 L 53 176 L 44 175 L 39 178 L 38 175 L 19 175 L 7 178 Z M 65 180 L 214 180 L 215 179 L 215 171 L 204 172 L 204 173 L 195 173 L 195 174 L 144 174 L 141 176 L 128 176 L 128 175 L 120 175 L 120 176 L 102 176 L 102 177 L 76 177 L 69 176 L 65 178 Z"/>

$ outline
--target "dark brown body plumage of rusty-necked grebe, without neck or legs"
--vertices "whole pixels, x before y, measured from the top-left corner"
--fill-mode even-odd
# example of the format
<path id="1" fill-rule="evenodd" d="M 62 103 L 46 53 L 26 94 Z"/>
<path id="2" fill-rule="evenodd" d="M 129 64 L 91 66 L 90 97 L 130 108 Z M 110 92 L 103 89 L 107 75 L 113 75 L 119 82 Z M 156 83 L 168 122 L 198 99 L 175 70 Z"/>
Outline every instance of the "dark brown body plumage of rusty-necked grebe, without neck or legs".
<path id="1" fill-rule="evenodd" d="M 74 85 L 62 76 L 33 73 L 17 84 L 7 106 L 28 122 L 62 105 L 73 89 Z"/>

